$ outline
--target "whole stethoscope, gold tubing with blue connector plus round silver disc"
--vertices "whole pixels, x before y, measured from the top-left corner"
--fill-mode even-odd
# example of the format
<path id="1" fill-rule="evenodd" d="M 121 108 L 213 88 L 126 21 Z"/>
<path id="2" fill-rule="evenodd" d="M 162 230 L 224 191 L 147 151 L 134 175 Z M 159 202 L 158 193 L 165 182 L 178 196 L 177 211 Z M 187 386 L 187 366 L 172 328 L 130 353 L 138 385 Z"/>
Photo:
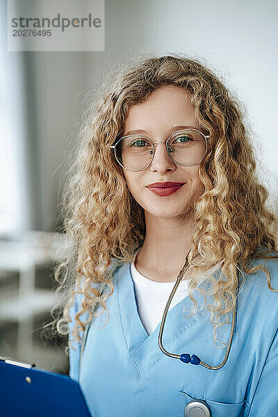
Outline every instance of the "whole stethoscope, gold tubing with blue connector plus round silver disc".
<path id="1" fill-rule="evenodd" d="M 212 365 L 208 365 L 208 363 L 202 362 L 201 359 L 199 359 L 199 357 L 197 357 L 196 354 L 192 354 L 192 355 L 190 355 L 189 353 L 174 354 L 174 353 L 167 352 L 167 350 L 165 350 L 165 347 L 163 347 L 163 344 L 162 344 L 163 329 L 164 329 L 164 326 L 165 326 L 165 320 L 166 320 L 166 317 L 167 317 L 167 312 L 168 312 L 169 306 L 171 304 L 172 298 L 174 297 L 174 293 L 176 293 L 177 288 L 178 288 L 181 280 L 183 279 L 183 275 L 186 272 L 186 270 L 188 269 L 188 267 L 189 267 L 189 263 L 188 263 L 188 255 L 187 255 L 186 256 L 186 262 L 184 263 L 183 268 L 181 268 L 181 270 L 179 272 L 179 275 L 177 276 L 177 281 L 174 284 L 174 288 L 172 289 L 170 297 L 169 297 L 169 299 L 167 301 L 167 304 L 165 306 L 165 310 L 164 310 L 164 313 L 163 313 L 163 318 L 161 320 L 161 327 L 159 329 L 159 334 L 158 334 L 158 346 L 160 347 L 161 351 L 165 355 L 167 355 L 168 357 L 174 358 L 174 359 L 179 359 L 183 363 L 192 363 L 193 365 L 201 365 L 201 366 L 204 366 L 204 368 L 207 368 L 207 369 L 220 369 L 227 362 L 229 352 L 231 350 L 231 342 L 233 340 L 234 329 L 235 329 L 235 325 L 236 325 L 236 309 L 233 312 L 233 320 L 232 320 L 232 323 L 231 323 L 231 334 L 230 334 L 230 337 L 229 337 L 229 344 L 228 344 L 228 347 L 227 347 L 227 350 L 226 350 L 226 354 L 225 354 L 224 360 L 218 366 L 212 366 Z M 186 405 L 186 408 L 184 409 L 184 416 L 185 417 L 211 417 L 211 410 L 209 409 L 208 404 L 206 404 L 205 401 L 195 399 L 195 400 L 192 400 L 192 401 L 188 402 L 188 404 Z"/>

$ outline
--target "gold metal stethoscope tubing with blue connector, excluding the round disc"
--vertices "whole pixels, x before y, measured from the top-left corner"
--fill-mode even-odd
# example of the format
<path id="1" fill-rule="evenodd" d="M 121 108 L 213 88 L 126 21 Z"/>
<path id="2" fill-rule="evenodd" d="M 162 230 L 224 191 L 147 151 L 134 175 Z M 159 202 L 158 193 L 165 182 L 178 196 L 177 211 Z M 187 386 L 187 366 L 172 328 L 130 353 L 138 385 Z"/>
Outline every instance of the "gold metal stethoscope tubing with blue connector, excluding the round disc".
<path id="1" fill-rule="evenodd" d="M 188 256 L 186 256 L 186 262 L 184 263 L 183 268 L 181 268 L 181 270 L 179 272 L 179 275 L 177 276 L 176 284 L 174 284 L 174 288 L 172 289 L 172 293 L 170 294 L 170 297 L 169 297 L 169 299 L 167 301 L 167 304 L 165 306 L 165 310 L 164 310 L 164 313 L 163 313 L 163 318 L 161 320 L 161 327 L 159 329 L 159 335 L 158 335 L 158 346 L 160 347 L 161 351 L 164 354 L 166 354 L 168 357 L 171 357 L 171 358 L 174 358 L 174 359 L 180 359 L 181 361 L 183 361 L 182 357 L 185 354 L 174 354 L 174 353 L 167 352 L 167 350 L 165 350 L 165 348 L 163 347 L 163 344 L 162 344 L 162 335 L 163 335 L 163 329 L 164 329 L 165 320 L 166 320 L 166 317 L 167 317 L 167 312 L 168 312 L 170 303 L 172 301 L 172 298 L 174 297 L 174 293 L 177 291 L 179 283 L 183 279 L 184 272 L 186 272 L 186 270 L 188 269 L 188 266 L 189 266 Z M 193 363 L 195 365 L 201 365 L 201 366 L 204 366 L 204 368 L 207 368 L 207 369 L 220 369 L 220 368 L 222 368 L 222 366 L 224 366 L 224 364 L 227 362 L 229 352 L 231 350 L 231 342 L 233 340 L 235 327 L 236 327 L 236 309 L 233 311 L 233 320 L 232 320 L 232 323 L 231 323 L 231 333 L 230 333 L 230 336 L 229 336 L 229 344 L 227 346 L 227 350 L 226 350 L 226 354 L 224 356 L 224 360 L 222 361 L 222 363 L 220 363 L 220 365 L 218 365 L 218 366 L 208 365 L 208 363 L 202 362 L 198 357 L 196 357 L 196 355 L 192 355 L 192 357 L 194 356 L 195 358 L 197 358 L 199 363 L 195 363 L 195 361 L 190 361 L 190 359 L 188 361 L 186 361 L 186 363 L 190 362 L 190 363 Z M 189 356 L 190 355 L 188 355 L 188 357 Z"/>

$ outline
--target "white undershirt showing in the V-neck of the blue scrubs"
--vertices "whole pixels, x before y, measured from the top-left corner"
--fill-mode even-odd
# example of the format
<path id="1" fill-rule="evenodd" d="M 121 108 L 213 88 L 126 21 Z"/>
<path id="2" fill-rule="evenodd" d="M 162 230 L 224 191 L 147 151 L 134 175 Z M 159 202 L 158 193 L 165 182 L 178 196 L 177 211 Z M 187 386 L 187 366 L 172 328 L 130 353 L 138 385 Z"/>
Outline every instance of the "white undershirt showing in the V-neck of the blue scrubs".
<path id="1" fill-rule="evenodd" d="M 131 262 L 131 277 L 134 284 L 138 314 L 147 334 L 151 334 L 161 322 L 165 305 L 174 288 L 175 281 L 157 282 L 144 277 L 135 267 L 135 259 L 138 251 L 134 254 Z M 214 272 L 222 262 L 215 265 L 208 272 Z M 169 311 L 183 298 L 188 295 L 188 279 L 181 281 L 172 299 Z"/>

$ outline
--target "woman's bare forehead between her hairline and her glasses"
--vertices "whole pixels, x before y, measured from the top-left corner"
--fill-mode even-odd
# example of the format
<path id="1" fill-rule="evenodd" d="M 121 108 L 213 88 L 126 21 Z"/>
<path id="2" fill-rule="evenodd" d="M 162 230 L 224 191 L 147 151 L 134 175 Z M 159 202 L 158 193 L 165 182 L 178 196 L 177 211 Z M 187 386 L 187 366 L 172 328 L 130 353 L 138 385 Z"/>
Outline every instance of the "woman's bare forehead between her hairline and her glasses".
<path id="1" fill-rule="evenodd" d="M 131 106 L 124 122 L 124 132 L 131 129 L 149 131 L 157 126 L 166 129 L 170 124 L 197 127 L 190 94 L 176 85 L 160 87 L 143 103 Z"/>

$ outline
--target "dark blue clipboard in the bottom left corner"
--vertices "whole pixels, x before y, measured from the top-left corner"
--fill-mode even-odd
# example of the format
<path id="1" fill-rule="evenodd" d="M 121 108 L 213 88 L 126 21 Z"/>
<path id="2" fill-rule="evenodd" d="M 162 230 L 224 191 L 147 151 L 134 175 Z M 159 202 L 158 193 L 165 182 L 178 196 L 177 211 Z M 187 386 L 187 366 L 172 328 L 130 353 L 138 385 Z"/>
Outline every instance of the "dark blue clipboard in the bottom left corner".
<path id="1" fill-rule="evenodd" d="M 0 357 L 1 417 L 92 417 L 78 382 Z"/>

